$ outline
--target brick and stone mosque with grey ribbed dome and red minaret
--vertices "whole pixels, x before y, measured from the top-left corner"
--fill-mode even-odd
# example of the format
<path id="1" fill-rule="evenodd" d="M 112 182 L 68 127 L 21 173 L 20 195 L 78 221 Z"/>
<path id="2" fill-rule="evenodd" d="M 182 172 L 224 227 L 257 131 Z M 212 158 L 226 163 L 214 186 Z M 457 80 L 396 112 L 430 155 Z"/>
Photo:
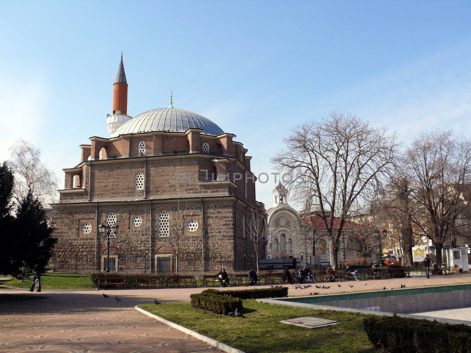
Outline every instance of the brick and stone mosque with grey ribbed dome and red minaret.
<path id="1" fill-rule="evenodd" d="M 63 169 L 65 188 L 54 206 L 56 270 L 104 270 L 102 224 L 118 225 L 110 240 L 111 271 L 254 265 L 248 214 L 266 213 L 255 200 L 244 145 L 202 115 L 175 108 L 172 96 L 168 107 L 134 117 L 127 107 L 121 57 L 106 118 L 110 136 L 90 137 L 80 145 L 77 165 Z"/>

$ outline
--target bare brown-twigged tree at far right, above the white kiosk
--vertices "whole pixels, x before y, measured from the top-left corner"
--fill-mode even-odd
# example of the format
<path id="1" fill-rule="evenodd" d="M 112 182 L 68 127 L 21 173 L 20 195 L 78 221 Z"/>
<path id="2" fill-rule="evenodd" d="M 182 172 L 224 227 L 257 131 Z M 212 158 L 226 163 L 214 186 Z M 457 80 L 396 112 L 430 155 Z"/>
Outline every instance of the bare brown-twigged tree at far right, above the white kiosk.
<path id="1" fill-rule="evenodd" d="M 471 140 L 451 130 L 420 134 L 407 148 L 402 170 L 410 183 L 410 219 L 432 241 L 441 265 L 443 245 L 462 232 L 457 218 L 469 213 L 464 197 L 471 181 Z"/>

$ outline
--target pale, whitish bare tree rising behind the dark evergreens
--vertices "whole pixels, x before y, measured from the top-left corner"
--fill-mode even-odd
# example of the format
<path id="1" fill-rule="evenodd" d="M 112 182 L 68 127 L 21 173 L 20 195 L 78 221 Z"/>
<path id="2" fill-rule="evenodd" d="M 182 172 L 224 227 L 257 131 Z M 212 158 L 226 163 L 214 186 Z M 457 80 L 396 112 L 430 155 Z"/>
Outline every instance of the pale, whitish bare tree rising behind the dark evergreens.
<path id="1" fill-rule="evenodd" d="M 10 147 L 8 165 L 15 173 L 13 197 L 20 203 L 31 192 L 43 205 L 57 200 L 57 177 L 41 162 L 41 151 L 31 141 L 19 139 Z"/>

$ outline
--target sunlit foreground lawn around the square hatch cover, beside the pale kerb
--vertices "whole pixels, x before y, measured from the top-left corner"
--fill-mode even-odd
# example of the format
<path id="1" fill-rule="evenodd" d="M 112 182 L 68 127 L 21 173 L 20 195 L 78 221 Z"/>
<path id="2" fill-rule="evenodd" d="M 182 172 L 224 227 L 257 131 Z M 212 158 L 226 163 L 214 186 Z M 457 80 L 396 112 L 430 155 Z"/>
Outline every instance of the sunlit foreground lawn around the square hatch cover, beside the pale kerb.
<path id="1" fill-rule="evenodd" d="M 363 314 L 298 309 L 262 304 L 254 299 L 244 300 L 246 319 L 195 310 L 190 303 L 148 304 L 140 307 L 247 353 L 379 352 L 366 337 Z M 320 329 L 306 329 L 279 322 L 301 316 L 331 319 L 340 323 Z"/>

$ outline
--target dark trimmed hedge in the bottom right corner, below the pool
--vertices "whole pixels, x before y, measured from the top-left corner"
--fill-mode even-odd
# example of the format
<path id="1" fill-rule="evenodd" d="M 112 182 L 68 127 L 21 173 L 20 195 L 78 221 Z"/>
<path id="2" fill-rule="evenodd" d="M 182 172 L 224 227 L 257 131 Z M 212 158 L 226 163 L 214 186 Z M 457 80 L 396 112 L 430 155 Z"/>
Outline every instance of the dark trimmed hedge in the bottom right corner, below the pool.
<path id="1" fill-rule="evenodd" d="M 471 326 L 403 317 L 363 320 L 368 339 L 388 352 L 471 353 Z"/>

